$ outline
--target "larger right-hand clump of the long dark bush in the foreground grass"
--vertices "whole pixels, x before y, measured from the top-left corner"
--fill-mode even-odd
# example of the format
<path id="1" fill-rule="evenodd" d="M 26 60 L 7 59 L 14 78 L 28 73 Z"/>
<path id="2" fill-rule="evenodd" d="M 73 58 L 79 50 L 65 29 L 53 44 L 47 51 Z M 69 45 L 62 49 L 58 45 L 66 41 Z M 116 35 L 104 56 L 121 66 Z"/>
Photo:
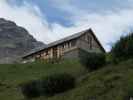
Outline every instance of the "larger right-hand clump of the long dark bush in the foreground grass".
<path id="1" fill-rule="evenodd" d="M 49 96 L 72 89 L 75 79 L 69 74 L 55 74 L 43 78 L 41 83 L 43 95 Z"/>

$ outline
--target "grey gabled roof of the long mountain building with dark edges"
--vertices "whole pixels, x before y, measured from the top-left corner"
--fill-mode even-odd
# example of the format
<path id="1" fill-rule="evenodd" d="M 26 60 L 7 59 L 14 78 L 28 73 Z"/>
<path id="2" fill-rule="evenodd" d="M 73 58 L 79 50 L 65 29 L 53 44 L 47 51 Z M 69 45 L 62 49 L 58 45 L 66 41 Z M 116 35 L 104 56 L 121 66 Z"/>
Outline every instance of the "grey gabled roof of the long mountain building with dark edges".
<path id="1" fill-rule="evenodd" d="M 60 40 L 57 40 L 57 41 L 54 41 L 48 45 L 46 45 L 45 47 L 40 47 L 38 49 L 34 49 L 32 50 L 31 52 L 29 52 L 28 54 L 26 54 L 25 56 L 23 56 L 23 58 L 25 57 L 28 57 L 32 54 L 35 54 L 35 53 L 38 53 L 38 52 L 41 52 L 45 49 L 48 49 L 50 47 L 54 47 L 54 46 L 57 46 L 59 44 L 62 44 L 64 42 L 67 42 L 67 41 L 70 41 L 70 40 L 73 40 L 73 39 L 76 39 L 76 38 L 79 38 L 80 36 L 84 35 L 86 32 L 91 32 L 92 35 L 94 36 L 95 40 L 97 41 L 97 43 L 99 44 L 100 48 L 103 50 L 103 52 L 105 52 L 105 49 L 102 47 L 101 43 L 99 42 L 99 40 L 97 39 L 97 37 L 95 36 L 94 32 L 91 30 L 91 29 L 87 29 L 87 30 L 84 30 L 82 32 L 79 32 L 79 33 L 75 33 L 73 35 L 70 35 L 66 38 L 63 38 L 63 39 L 60 39 Z"/>

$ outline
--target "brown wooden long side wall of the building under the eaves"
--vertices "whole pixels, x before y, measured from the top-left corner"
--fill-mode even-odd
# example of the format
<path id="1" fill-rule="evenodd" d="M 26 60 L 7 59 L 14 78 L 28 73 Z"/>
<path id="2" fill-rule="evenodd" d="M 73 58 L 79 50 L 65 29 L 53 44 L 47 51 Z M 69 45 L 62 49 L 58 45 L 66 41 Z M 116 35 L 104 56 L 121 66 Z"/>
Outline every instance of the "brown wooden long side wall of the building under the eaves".
<path id="1" fill-rule="evenodd" d="M 61 58 L 65 55 L 66 52 L 72 51 L 73 49 L 77 48 L 76 41 L 77 40 L 71 40 L 71 41 L 59 44 L 55 47 L 48 48 L 44 51 L 41 51 L 36 54 L 33 54 L 32 56 L 29 56 L 27 60 L 33 61 L 37 59 L 47 60 L 47 59 L 53 59 L 53 58 Z M 56 57 L 54 55 L 54 52 L 56 52 Z"/>

